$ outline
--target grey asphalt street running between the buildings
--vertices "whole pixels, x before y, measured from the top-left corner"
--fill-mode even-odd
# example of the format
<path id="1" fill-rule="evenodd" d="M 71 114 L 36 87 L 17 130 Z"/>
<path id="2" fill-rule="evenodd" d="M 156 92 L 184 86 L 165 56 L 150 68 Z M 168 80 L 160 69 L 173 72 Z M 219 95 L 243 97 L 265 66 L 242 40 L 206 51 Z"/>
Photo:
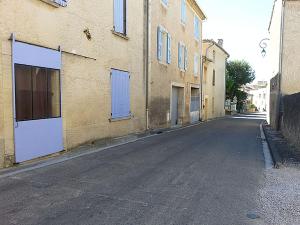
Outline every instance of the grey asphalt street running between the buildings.
<path id="1" fill-rule="evenodd" d="M 247 214 L 264 182 L 262 119 L 215 120 L 1 178 L 0 224 L 260 224 Z"/>

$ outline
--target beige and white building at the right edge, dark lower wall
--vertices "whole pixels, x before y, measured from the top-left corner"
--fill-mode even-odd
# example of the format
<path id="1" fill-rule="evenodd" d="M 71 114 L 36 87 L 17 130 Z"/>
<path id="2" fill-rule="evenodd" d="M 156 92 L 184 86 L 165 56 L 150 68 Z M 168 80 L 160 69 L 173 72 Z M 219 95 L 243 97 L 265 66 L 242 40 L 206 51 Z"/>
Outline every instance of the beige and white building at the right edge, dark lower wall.
<path id="1" fill-rule="evenodd" d="M 270 124 L 300 147 L 300 0 L 275 0 L 268 58 Z"/>

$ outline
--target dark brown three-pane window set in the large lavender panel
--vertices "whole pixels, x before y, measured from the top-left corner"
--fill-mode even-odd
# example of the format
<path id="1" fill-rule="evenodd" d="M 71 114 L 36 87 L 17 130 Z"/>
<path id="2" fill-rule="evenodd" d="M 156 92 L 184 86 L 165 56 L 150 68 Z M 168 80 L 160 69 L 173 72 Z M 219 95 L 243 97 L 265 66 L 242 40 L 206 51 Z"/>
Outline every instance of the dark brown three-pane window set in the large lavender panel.
<path id="1" fill-rule="evenodd" d="M 61 117 L 59 70 L 15 65 L 16 120 Z"/>

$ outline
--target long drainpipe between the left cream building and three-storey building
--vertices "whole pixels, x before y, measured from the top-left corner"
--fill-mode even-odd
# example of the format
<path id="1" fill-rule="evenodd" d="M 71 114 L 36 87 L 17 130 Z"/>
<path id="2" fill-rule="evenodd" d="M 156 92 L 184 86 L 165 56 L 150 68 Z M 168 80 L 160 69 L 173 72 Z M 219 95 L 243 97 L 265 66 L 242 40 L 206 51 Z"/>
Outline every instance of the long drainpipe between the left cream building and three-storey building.
<path id="1" fill-rule="evenodd" d="M 144 35 L 144 73 L 145 73 L 145 89 L 146 89 L 146 130 L 149 130 L 149 41 L 150 32 L 149 32 L 149 4 L 151 0 L 145 0 L 145 35 Z"/>

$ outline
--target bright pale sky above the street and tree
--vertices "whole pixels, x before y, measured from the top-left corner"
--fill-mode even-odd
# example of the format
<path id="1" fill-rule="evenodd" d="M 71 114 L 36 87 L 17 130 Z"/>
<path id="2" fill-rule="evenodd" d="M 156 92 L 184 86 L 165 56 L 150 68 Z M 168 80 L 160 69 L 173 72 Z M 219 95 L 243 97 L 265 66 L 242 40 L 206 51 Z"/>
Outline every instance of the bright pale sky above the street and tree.
<path id="1" fill-rule="evenodd" d="M 197 0 L 207 16 L 203 36 L 224 39 L 231 60 L 245 59 L 255 69 L 257 80 L 267 77 L 266 61 L 259 42 L 268 36 L 274 0 Z"/>

